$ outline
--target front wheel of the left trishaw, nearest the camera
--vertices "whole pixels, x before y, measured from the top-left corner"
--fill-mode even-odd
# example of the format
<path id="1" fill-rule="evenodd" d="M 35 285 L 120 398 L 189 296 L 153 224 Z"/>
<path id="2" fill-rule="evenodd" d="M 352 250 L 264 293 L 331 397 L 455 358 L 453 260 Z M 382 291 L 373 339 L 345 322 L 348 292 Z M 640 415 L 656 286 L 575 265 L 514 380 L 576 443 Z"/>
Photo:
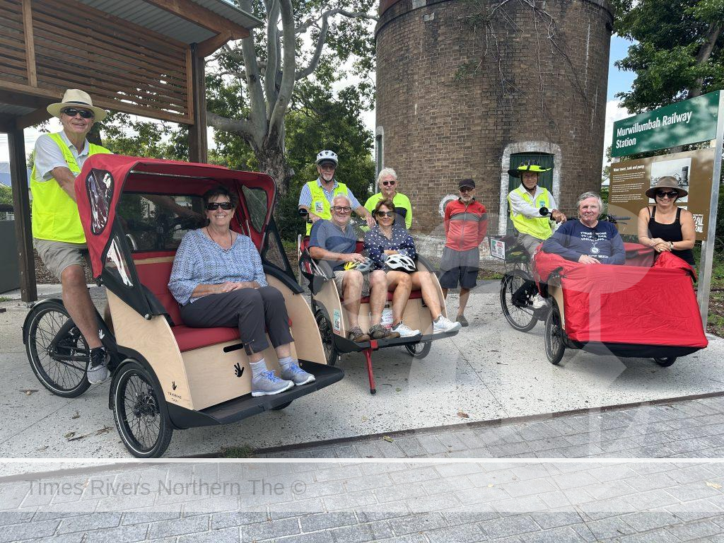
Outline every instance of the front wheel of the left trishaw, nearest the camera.
<path id="1" fill-rule="evenodd" d="M 111 383 L 113 416 L 123 445 L 136 458 L 159 458 L 171 442 L 171 422 L 161 411 L 156 379 L 136 361 L 124 363 Z"/>

